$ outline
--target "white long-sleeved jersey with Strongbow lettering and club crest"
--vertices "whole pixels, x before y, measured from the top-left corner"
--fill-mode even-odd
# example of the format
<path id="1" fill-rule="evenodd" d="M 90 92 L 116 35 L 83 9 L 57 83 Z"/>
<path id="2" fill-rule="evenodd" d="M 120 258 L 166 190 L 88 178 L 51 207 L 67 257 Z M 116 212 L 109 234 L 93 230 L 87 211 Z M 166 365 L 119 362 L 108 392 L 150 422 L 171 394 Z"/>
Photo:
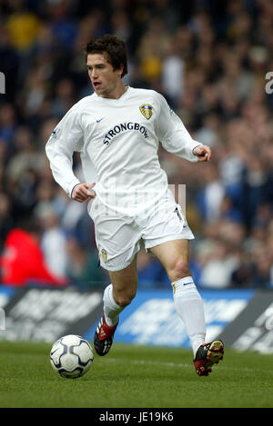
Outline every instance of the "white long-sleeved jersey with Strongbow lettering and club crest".
<path id="1" fill-rule="evenodd" d="M 128 87 L 119 99 L 94 93 L 80 100 L 56 126 L 45 151 L 69 196 L 80 183 L 72 168 L 73 153 L 79 152 L 86 183 L 93 183 L 95 167 L 97 199 L 119 213 L 136 213 L 167 193 L 159 142 L 169 153 L 197 161 L 193 149 L 201 144 L 166 99 L 154 90 Z"/>

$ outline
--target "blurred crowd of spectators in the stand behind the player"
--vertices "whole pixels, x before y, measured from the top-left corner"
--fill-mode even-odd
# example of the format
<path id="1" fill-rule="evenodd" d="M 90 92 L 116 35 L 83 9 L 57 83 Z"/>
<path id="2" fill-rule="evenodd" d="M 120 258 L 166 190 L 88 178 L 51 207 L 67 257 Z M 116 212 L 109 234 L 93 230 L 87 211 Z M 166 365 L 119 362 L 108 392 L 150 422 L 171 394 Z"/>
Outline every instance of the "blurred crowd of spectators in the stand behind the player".
<path id="1" fill-rule="evenodd" d="M 86 43 L 111 33 L 126 41 L 126 84 L 164 94 L 190 134 L 212 147 L 212 160 L 204 164 L 159 149 L 169 183 L 187 185 L 197 285 L 273 287 L 273 94 L 266 90 L 266 74 L 273 71 L 273 3 L 0 0 L 0 10 L 2 282 L 25 285 L 23 272 L 21 278 L 11 273 L 12 249 L 23 234 L 35 244 L 30 268 L 36 259 L 47 273 L 28 279 L 78 288 L 107 282 L 97 266 L 86 204 L 71 201 L 56 185 L 45 143 L 66 111 L 92 93 Z M 80 176 L 77 154 L 74 163 Z M 23 247 L 19 253 L 32 253 L 27 243 Z M 26 268 L 29 257 L 15 269 Z M 143 288 L 169 285 L 144 251 L 138 272 Z"/>

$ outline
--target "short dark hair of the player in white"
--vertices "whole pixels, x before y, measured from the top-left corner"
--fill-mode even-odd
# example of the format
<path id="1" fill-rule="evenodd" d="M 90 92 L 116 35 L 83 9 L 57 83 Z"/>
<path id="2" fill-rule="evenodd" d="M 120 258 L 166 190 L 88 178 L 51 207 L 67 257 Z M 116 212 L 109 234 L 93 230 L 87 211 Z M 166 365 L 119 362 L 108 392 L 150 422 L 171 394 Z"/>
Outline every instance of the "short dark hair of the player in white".
<path id="1" fill-rule="evenodd" d="M 125 42 L 116 35 L 103 35 L 99 38 L 92 38 L 86 45 L 87 54 L 104 54 L 106 60 L 114 68 L 114 71 L 123 65 L 121 77 L 127 74 L 127 54 Z"/>

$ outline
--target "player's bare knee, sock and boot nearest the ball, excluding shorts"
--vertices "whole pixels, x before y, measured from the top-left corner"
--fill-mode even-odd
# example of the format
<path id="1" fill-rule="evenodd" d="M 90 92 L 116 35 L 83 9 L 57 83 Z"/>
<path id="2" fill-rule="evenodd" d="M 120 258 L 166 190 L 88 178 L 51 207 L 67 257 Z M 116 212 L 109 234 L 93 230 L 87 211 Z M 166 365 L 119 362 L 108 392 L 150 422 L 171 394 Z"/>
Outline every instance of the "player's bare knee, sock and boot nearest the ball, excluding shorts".
<path id="1" fill-rule="evenodd" d="M 104 292 L 103 316 L 96 328 L 94 346 L 100 356 L 109 352 L 120 312 L 134 299 L 137 288 L 136 256 L 121 271 L 109 272 L 111 284 Z"/>

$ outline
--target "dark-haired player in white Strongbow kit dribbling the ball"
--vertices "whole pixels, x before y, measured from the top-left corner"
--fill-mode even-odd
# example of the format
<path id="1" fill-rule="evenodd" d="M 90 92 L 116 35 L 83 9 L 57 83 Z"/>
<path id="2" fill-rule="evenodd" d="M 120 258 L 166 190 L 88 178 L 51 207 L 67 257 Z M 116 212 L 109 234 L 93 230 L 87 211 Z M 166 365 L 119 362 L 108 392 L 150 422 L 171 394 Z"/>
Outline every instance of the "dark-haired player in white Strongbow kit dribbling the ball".
<path id="1" fill-rule="evenodd" d="M 89 202 L 100 263 L 109 272 L 96 352 L 109 351 L 119 314 L 136 296 L 136 256 L 144 245 L 167 271 L 197 374 L 207 376 L 223 358 L 224 345 L 218 339 L 205 342 L 203 302 L 188 267 L 188 240 L 194 235 L 168 189 L 157 150 L 160 142 L 190 162 L 209 161 L 211 150 L 191 138 L 161 94 L 123 84 L 127 60 L 120 38 L 92 39 L 86 66 L 94 93 L 67 112 L 45 150 L 56 182 L 73 200 Z M 85 182 L 73 172 L 74 152 L 81 155 Z"/>

